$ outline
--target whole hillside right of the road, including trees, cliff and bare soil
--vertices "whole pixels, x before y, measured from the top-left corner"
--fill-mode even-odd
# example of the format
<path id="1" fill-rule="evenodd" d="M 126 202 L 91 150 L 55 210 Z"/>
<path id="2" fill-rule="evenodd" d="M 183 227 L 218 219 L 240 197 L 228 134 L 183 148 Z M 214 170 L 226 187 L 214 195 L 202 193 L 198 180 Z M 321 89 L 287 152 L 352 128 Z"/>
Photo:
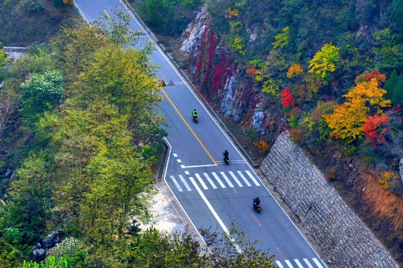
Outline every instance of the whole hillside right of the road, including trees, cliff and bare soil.
<path id="1" fill-rule="evenodd" d="M 160 2 L 133 6 L 147 6 L 139 14 L 152 21 L 158 18 L 151 8 Z M 195 4 L 198 12 L 206 6 L 210 20 L 197 51 L 178 63 L 200 92 L 221 108 L 220 92 L 234 76 L 241 88 L 230 107 L 237 118 L 230 114 L 243 145 L 255 144 L 262 158 L 279 132 L 289 134 L 402 262 L 403 1 Z M 181 37 L 155 25 L 180 47 Z M 264 117 L 253 125 L 257 104 Z"/>

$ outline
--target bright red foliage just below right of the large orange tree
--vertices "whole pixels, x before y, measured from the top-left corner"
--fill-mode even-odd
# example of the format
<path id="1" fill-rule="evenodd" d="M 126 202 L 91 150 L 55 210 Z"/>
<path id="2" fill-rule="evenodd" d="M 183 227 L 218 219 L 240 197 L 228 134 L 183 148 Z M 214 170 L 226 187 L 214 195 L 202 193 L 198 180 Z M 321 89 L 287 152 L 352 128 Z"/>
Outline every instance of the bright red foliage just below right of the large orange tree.
<path id="1" fill-rule="evenodd" d="M 364 125 L 362 126 L 362 131 L 364 136 L 372 146 L 378 144 L 386 144 L 386 134 L 389 132 L 389 122 L 391 118 L 382 113 L 381 115 L 368 116 Z"/>

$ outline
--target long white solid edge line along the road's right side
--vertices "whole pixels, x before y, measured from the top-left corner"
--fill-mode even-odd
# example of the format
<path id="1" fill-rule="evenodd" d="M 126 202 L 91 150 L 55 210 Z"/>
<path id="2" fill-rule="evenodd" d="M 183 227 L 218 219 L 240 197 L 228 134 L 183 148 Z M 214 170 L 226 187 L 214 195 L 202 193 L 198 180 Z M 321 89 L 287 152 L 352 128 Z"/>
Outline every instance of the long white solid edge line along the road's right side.
<path id="1" fill-rule="evenodd" d="M 119 0 L 120 3 L 122 3 L 122 5 L 126 8 L 127 12 L 129 12 L 129 14 L 133 17 L 133 19 L 135 20 L 135 22 L 137 22 L 137 24 L 140 26 L 140 28 L 144 31 L 144 33 L 150 37 L 146 31 L 144 30 L 144 28 L 141 26 L 141 24 L 137 21 L 137 19 L 135 18 L 135 16 L 133 16 L 133 14 L 131 14 L 131 12 L 127 9 L 127 7 L 123 4 L 122 0 Z M 262 182 L 262 184 L 264 185 L 264 187 L 266 188 L 266 190 L 269 192 L 270 196 L 272 196 L 272 198 L 276 201 L 276 203 L 278 204 L 278 206 L 280 206 L 281 210 L 283 210 L 284 214 L 287 216 L 287 218 L 291 221 L 291 223 L 294 225 L 294 227 L 298 230 L 298 232 L 301 234 L 301 236 L 303 237 L 303 239 L 305 239 L 305 241 L 308 243 L 308 245 L 311 247 L 312 251 L 315 252 L 316 256 L 318 256 L 318 258 L 320 259 L 320 261 L 322 262 L 322 264 L 324 264 L 324 262 L 322 261 L 322 259 L 320 258 L 320 256 L 318 255 L 318 253 L 316 252 L 316 250 L 312 247 L 312 245 L 309 243 L 309 241 L 305 238 L 305 236 L 302 234 L 301 230 L 299 230 L 299 228 L 297 227 L 297 225 L 295 225 L 295 223 L 291 220 L 290 216 L 285 212 L 284 208 L 280 205 L 280 203 L 278 203 L 278 201 L 276 200 L 276 198 L 274 198 L 274 196 L 272 195 L 272 193 L 269 191 L 269 189 L 266 187 L 266 185 L 263 183 L 262 179 L 260 179 L 260 177 L 256 174 L 256 172 L 253 170 L 253 168 L 251 167 L 251 165 L 246 161 L 245 157 L 243 157 L 243 155 L 239 152 L 238 148 L 233 144 L 233 142 L 231 141 L 231 139 L 227 136 L 227 134 L 224 132 L 224 130 L 221 129 L 221 127 L 218 125 L 218 123 L 216 122 L 216 120 L 212 117 L 212 115 L 210 114 L 210 112 L 207 110 L 207 108 L 205 107 L 205 105 L 202 103 L 202 101 L 200 101 L 200 99 L 196 96 L 196 94 L 190 89 L 189 85 L 187 85 L 187 83 L 185 82 L 185 80 L 183 80 L 182 76 L 179 74 L 179 72 L 176 70 L 176 68 L 174 68 L 174 66 L 172 65 L 172 63 L 170 62 L 170 60 L 168 60 L 168 58 L 166 57 L 166 55 L 164 53 L 162 53 L 161 49 L 158 47 L 158 45 L 156 44 L 156 42 L 154 42 L 154 40 L 150 37 L 150 39 L 153 41 L 154 45 L 157 47 L 158 51 L 161 53 L 161 55 L 165 58 L 165 60 L 168 62 L 168 64 L 172 67 L 172 69 L 177 73 L 177 75 L 181 78 L 181 80 L 185 83 L 186 87 L 189 89 L 189 91 L 193 94 L 193 96 L 195 96 L 195 98 L 197 99 L 197 101 L 199 101 L 200 105 L 202 105 L 202 107 L 204 108 L 204 110 L 207 112 L 207 114 L 210 116 L 210 118 L 213 120 L 214 123 L 216 123 L 218 129 L 221 130 L 222 134 L 224 134 L 224 136 L 227 138 L 227 140 L 231 143 L 231 145 L 233 146 L 233 148 L 237 151 L 237 153 L 242 157 L 242 159 L 246 162 L 246 164 L 249 166 L 249 168 L 251 169 L 251 171 L 256 175 L 256 177 L 259 178 L 259 180 Z M 166 141 L 168 142 L 168 140 L 166 139 Z M 171 190 L 172 191 L 172 190 Z M 173 192 L 172 192 L 173 194 Z M 186 212 L 185 212 L 186 213 Z M 188 217 L 189 218 L 189 217 Z M 190 220 L 190 218 L 189 218 Z M 200 234 L 199 234 L 200 235 Z M 203 240 L 204 241 L 204 240 Z M 325 267 L 326 264 L 324 264 Z"/>

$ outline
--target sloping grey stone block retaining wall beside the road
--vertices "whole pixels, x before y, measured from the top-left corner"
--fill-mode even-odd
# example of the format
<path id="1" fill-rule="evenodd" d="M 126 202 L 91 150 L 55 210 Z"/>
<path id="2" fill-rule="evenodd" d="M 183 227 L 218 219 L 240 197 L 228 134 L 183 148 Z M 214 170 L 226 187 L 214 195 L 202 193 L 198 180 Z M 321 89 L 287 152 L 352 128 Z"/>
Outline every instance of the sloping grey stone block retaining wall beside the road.
<path id="1" fill-rule="evenodd" d="M 337 266 L 399 267 L 288 135 L 278 136 L 260 169 Z"/>

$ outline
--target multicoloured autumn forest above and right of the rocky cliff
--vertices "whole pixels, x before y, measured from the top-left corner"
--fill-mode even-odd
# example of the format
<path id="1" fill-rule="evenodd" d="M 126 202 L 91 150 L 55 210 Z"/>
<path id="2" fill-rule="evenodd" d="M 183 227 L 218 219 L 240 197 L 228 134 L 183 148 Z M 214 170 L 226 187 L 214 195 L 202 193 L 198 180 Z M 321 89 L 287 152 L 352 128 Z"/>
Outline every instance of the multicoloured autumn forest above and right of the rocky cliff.
<path id="1" fill-rule="evenodd" d="M 401 4 L 209 1 L 208 11 L 247 74 L 282 103 L 296 142 L 314 154 L 336 142 L 401 194 Z M 249 42 L 251 31 L 256 42 Z"/>

